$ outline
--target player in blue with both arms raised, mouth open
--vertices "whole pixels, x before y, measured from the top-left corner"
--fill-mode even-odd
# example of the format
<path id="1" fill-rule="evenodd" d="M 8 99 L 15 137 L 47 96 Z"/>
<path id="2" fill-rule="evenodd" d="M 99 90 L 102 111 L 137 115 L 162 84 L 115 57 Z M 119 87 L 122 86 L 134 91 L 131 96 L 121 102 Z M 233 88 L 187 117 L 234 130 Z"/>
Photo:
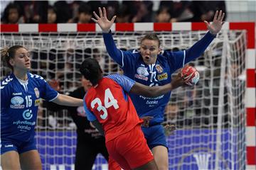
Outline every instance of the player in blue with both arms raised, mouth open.
<path id="1" fill-rule="evenodd" d="M 105 8 L 103 11 L 99 8 L 100 16 L 95 11 L 93 13 L 95 18 L 92 20 L 102 28 L 105 46 L 110 57 L 123 69 L 125 76 L 147 86 L 169 84 L 171 74 L 201 56 L 221 30 L 225 16 L 222 11 L 216 11 L 212 23 L 204 21 L 209 30 L 208 33 L 188 50 L 178 52 L 161 50 L 159 38 L 152 33 L 142 38 L 139 51 L 122 51 L 114 44 L 110 30 L 116 16 L 111 21 L 108 20 Z M 169 169 L 168 149 L 161 123 L 164 121 L 164 108 L 169 102 L 170 95 L 171 92 L 156 98 L 148 98 L 130 94 L 139 117 L 153 117 L 149 122 L 149 127 L 142 127 L 142 130 L 159 169 Z"/>

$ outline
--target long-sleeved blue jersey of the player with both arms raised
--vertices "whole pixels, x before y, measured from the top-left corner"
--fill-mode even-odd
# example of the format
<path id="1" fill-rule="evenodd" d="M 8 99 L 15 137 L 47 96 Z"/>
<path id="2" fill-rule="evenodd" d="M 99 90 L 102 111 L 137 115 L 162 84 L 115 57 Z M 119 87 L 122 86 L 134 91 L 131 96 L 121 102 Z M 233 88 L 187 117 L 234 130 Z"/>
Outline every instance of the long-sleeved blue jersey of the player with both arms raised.
<path id="1" fill-rule="evenodd" d="M 103 33 L 105 46 L 110 57 L 123 69 L 124 75 L 146 86 L 162 86 L 171 82 L 171 74 L 184 64 L 199 57 L 210 42 L 215 38 L 209 32 L 196 42 L 188 50 L 169 52 L 163 50 L 157 56 L 155 64 L 147 65 L 142 59 L 142 55 L 137 50 L 123 51 L 117 49 L 112 38 L 112 33 Z M 156 98 L 147 98 L 141 95 L 129 94 L 134 106 L 142 116 L 153 116 L 150 124 L 164 121 L 164 109 L 169 102 L 171 92 Z"/>

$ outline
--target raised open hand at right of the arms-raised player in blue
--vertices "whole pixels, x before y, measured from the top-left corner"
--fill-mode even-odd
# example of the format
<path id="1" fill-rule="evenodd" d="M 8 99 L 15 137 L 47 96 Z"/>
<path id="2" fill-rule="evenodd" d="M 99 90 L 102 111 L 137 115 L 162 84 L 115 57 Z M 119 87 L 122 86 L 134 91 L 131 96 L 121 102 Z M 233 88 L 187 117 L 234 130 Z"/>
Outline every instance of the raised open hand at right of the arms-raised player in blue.
<path id="1" fill-rule="evenodd" d="M 220 32 L 224 23 L 223 21 L 224 16 L 225 16 L 225 13 L 223 13 L 223 11 L 220 10 L 220 12 L 219 11 L 215 12 L 215 16 L 213 18 L 212 23 L 203 21 L 204 23 L 206 23 L 206 26 L 211 34 L 216 35 L 218 32 Z"/>

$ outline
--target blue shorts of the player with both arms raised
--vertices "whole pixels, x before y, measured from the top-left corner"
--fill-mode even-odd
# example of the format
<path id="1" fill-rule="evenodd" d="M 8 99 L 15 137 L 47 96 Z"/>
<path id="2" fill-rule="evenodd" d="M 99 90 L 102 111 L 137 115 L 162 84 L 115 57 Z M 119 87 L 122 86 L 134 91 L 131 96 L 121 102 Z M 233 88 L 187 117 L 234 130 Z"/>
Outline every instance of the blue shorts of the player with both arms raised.
<path id="1" fill-rule="evenodd" d="M 150 149 L 159 145 L 162 145 L 168 149 L 166 137 L 164 135 L 164 128 L 162 125 L 152 125 L 149 126 L 149 128 L 142 127 L 142 131 L 144 132 L 146 143 Z"/>

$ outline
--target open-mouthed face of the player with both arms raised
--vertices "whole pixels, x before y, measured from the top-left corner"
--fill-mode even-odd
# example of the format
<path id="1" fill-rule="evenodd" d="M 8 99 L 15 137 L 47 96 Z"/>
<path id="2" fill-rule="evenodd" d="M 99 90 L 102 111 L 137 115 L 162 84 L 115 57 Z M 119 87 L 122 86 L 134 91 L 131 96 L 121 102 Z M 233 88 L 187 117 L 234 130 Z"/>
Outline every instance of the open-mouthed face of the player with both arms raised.
<path id="1" fill-rule="evenodd" d="M 145 64 L 155 64 L 156 57 L 160 52 L 159 42 L 157 40 L 143 40 L 139 50 Z"/>

